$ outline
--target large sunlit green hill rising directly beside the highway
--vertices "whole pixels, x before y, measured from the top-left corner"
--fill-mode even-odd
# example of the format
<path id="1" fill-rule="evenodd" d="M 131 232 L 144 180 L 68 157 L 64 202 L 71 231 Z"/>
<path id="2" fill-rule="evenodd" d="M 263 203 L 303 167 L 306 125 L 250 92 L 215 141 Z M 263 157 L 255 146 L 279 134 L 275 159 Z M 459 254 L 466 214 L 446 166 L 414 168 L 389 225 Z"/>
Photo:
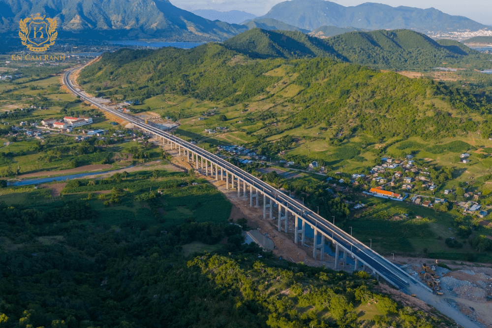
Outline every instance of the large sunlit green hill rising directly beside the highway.
<path id="1" fill-rule="evenodd" d="M 254 60 L 214 43 L 189 50 L 106 53 L 81 72 L 79 82 L 100 96 L 142 101 L 162 94 L 226 107 L 250 103 L 254 108 L 252 103 L 270 101 L 268 115 L 282 122 L 282 131 L 338 126 L 340 133 L 426 139 L 492 132 L 486 94 L 474 97 L 430 79 L 409 79 L 328 58 Z M 471 113 L 482 115 L 471 121 Z M 264 118 L 254 116 L 260 114 L 244 115 L 261 122 Z"/>

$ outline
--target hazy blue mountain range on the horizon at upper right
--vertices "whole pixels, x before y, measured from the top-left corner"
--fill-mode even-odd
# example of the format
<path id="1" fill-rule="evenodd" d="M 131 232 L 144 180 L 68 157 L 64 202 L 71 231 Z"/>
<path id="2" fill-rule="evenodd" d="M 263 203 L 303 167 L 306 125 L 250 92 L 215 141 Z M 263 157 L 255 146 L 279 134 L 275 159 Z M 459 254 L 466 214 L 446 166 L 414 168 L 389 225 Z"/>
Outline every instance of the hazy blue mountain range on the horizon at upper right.
<path id="1" fill-rule="evenodd" d="M 366 30 L 411 29 L 422 33 L 491 28 L 462 16 L 451 16 L 434 8 L 392 7 L 366 2 L 345 7 L 323 0 L 291 0 L 276 4 L 264 16 L 307 30 L 321 26 Z"/>

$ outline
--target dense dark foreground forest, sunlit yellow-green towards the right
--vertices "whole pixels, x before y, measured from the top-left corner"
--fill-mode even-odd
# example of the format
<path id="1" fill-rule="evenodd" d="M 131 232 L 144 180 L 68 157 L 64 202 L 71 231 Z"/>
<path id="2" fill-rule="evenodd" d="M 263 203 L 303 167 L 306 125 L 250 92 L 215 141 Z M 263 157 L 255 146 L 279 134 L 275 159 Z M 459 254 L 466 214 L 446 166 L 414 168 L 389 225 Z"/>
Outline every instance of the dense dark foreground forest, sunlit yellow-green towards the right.
<path id="1" fill-rule="evenodd" d="M 62 215 L 60 215 L 62 213 Z M 73 215 L 77 213 L 77 215 Z M 84 201 L 0 204 L 0 327 L 431 328 L 366 272 L 281 261 L 225 222 L 103 223 Z M 227 242 L 186 258 L 193 240 Z M 364 316 L 365 312 L 369 316 Z"/>

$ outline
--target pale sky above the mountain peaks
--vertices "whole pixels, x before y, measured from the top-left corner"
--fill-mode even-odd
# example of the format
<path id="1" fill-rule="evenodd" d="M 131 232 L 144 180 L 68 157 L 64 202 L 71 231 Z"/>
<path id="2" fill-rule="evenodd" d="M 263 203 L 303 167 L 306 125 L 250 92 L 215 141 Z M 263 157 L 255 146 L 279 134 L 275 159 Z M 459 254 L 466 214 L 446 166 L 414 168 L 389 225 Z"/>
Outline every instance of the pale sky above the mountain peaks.
<path id="1" fill-rule="evenodd" d="M 184 10 L 215 9 L 218 11 L 241 10 L 256 16 L 266 14 L 283 0 L 170 0 Z M 468 17 L 482 24 L 492 25 L 492 0 L 332 0 L 343 6 L 355 6 L 364 2 L 389 4 L 393 7 L 409 6 L 435 8 L 446 14 Z"/>

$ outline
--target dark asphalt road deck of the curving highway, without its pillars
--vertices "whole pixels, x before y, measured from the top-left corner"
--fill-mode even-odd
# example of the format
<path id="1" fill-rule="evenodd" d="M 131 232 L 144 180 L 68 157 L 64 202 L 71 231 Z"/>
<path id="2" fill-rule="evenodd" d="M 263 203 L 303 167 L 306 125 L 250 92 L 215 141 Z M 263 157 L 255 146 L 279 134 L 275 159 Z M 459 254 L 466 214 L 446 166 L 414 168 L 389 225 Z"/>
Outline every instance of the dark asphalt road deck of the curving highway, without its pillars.
<path id="1" fill-rule="evenodd" d="M 87 97 L 85 93 L 81 92 L 79 89 L 75 88 L 70 81 L 70 74 L 79 69 L 80 66 L 74 67 L 68 71 L 66 71 L 63 75 L 63 84 L 68 88 L 68 90 L 76 96 L 79 96 L 82 100 L 85 100 L 94 106 L 97 106 L 101 110 L 110 112 L 111 114 L 122 118 L 123 120 L 132 123 L 134 126 L 139 127 L 142 130 L 149 131 L 155 135 L 158 135 L 162 138 L 165 138 L 177 145 L 181 145 L 185 149 L 191 151 L 192 153 L 197 154 L 197 156 L 202 157 L 202 159 L 206 159 L 209 162 L 226 169 L 231 172 L 233 175 L 238 177 L 250 186 L 252 186 L 257 192 L 266 195 L 271 200 L 277 202 L 277 204 L 282 204 L 285 208 L 288 208 L 288 211 L 299 217 L 302 221 L 305 221 L 308 225 L 316 230 L 320 231 L 329 239 L 333 239 L 333 241 L 348 254 L 351 254 L 353 258 L 358 259 L 359 261 L 365 263 L 367 266 L 372 268 L 374 273 L 379 274 L 389 283 L 394 285 L 400 289 L 406 289 L 410 285 L 420 285 L 420 287 L 425 287 L 430 291 L 430 289 L 423 285 L 420 281 L 410 276 L 408 273 L 403 271 L 399 266 L 393 264 L 388 261 L 378 253 L 374 252 L 368 246 L 357 240 L 356 238 L 350 236 L 345 231 L 339 229 L 337 226 L 330 223 L 328 220 L 323 217 L 317 215 L 313 211 L 311 211 L 306 206 L 302 205 L 295 199 L 288 197 L 282 192 L 278 191 L 274 187 L 269 184 L 261 181 L 260 179 L 254 177 L 253 175 L 243 171 L 239 167 L 215 156 L 212 153 L 209 153 L 206 150 L 201 149 L 200 147 L 191 144 L 183 139 L 180 139 L 174 136 L 171 133 L 162 131 L 157 129 L 152 124 L 146 124 L 139 118 L 136 118 L 131 115 L 123 114 L 111 107 L 108 107 L 104 104 L 101 104 L 94 100 L 93 98 Z M 297 218 L 296 218 L 297 220 Z"/>

